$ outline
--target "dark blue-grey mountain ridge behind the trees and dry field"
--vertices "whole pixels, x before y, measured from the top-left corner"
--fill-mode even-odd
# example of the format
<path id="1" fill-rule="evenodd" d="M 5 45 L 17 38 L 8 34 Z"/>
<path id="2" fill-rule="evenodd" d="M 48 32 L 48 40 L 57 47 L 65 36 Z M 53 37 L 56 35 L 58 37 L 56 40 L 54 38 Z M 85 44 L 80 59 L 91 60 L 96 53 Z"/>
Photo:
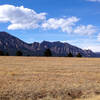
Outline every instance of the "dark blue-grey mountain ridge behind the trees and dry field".
<path id="1" fill-rule="evenodd" d="M 96 57 L 96 54 L 91 50 L 82 50 L 68 43 L 43 41 L 41 43 L 34 42 L 28 44 L 7 32 L 0 32 L 0 50 L 9 52 L 12 56 L 18 50 L 21 50 L 24 55 L 43 56 L 44 51 L 48 48 L 52 51 L 53 56 L 67 56 L 71 52 L 74 56 L 81 53 L 84 57 Z"/>

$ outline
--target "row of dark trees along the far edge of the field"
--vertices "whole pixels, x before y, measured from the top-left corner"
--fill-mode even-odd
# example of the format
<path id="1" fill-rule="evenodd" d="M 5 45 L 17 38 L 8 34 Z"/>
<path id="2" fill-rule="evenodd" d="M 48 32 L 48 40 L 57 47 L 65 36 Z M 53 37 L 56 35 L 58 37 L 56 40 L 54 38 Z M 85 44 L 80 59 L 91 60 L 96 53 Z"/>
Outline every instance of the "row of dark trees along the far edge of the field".
<path id="1" fill-rule="evenodd" d="M 18 51 L 16 51 L 15 55 L 16 56 L 23 56 L 23 52 L 20 51 L 20 50 L 18 50 Z M 4 53 L 3 51 L 0 51 L 0 56 L 10 56 L 10 54 L 8 52 Z M 27 55 L 27 56 L 29 56 L 29 55 Z M 44 51 L 44 56 L 46 56 L 46 57 L 52 57 L 51 50 L 50 49 L 46 49 Z M 68 54 L 66 54 L 66 57 L 74 57 L 74 55 L 71 52 L 69 52 Z M 82 57 L 81 53 L 78 53 L 76 55 L 76 57 Z"/>

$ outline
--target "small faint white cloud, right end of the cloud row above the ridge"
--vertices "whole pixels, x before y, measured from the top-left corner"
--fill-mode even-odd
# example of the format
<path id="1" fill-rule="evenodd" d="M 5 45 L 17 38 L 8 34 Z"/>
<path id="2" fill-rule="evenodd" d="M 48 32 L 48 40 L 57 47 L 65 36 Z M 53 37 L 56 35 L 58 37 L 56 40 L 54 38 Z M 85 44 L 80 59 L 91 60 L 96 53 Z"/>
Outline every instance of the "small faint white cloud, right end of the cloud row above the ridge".
<path id="1" fill-rule="evenodd" d="M 92 35 L 97 32 L 97 29 L 93 25 L 80 25 L 73 32 L 80 35 Z"/>

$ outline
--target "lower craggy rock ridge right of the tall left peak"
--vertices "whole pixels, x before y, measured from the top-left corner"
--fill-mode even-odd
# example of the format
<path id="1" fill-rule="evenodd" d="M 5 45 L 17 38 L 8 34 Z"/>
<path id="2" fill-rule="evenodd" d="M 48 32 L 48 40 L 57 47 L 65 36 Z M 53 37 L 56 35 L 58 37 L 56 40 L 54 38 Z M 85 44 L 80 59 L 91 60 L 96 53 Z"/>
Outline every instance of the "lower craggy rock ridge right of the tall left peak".
<path id="1" fill-rule="evenodd" d="M 43 41 L 41 43 L 34 42 L 31 46 L 37 55 L 43 55 L 43 52 L 49 48 L 52 51 L 53 56 L 66 56 L 69 52 L 71 52 L 74 56 L 81 53 L 84 57 L 95 57 L 95 53 L 91 50 L 82 50 L 76 46 L 72 46 L 68 43 L 62 43 L 60 41 Z"/>

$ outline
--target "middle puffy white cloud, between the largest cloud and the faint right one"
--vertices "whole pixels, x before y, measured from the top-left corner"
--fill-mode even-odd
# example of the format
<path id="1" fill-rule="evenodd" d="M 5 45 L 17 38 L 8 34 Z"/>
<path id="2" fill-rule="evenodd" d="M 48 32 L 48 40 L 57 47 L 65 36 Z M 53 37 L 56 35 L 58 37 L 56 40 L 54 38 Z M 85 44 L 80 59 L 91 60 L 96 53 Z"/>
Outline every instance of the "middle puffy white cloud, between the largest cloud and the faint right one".
<path id="1" fill-rule="evenodd" d="M 73 26 L 79 19 L 77 17 L 70 18 L 50 18 L 42 24 L 44 29 L 61 29 L 63 32 L 71 33 Z"/>

